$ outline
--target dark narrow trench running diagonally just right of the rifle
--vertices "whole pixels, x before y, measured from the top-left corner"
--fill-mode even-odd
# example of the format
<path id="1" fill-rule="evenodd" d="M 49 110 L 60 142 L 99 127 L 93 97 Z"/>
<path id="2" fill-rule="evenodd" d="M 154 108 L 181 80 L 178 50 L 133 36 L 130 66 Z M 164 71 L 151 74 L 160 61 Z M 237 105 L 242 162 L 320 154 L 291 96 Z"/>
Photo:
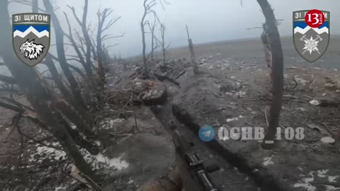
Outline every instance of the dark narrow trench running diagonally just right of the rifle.
<path id="1" fill-rule="evenodd" d="M 251 181 L 254 181 L 254 184 L 257 187 L 257 190 L 264 191 L 284 191 L 283 187 L 273 178 L 273 175 L 266 172 L 266 170 L 262 170 L 261 173 L 254 173 L 255 168 L 251 168 L 247 163 L 244 157 L 234 154 L 231 151 L 225 149 L 222 144 L 220 144 L 216 139 L 213 139 L 209 142 L 203 142 L 198 139 L 197 132 L 200 129 L 200 125 L 196 124 L 193 120 L 193 117 L 186 112 L 185 109 L 179 108 L 178 105 L 174 105 L 172 103 L 172 98 L 168 98 L 164 105 L 154 105 L 150 107 L 155 117 L 161 122 L 162 125 L 166 128 L 167 131 L 170 131 L 169 121 L 174 120 L 178 125 L 183 127 L 182 129 L 186 133 L 193 134 L 193 139 L 196 139 L 197 142 L 208 149 L 210 153 L 216 154 L 222 158 L 222 163 L 225 163 L 229 166 L 233 166 L 237 168 L 240 173 L 246 175 L 251 178 Z M 200 154 L 200 153 L 198 153 Z M 261 167 L 258 167 L 261 169 Z M 242 180 L 239 180 L 242 181 Z M 243 180 L 244 181 L 244 180 Z M 246 184 L 246 181 L 244 181 Z M 255 187 L 254 187 L 255 188 Z M 256 189 L 256 188 L 255 188 Z M 221 189 L 221 190 L 229 190 Z M 233 190 L 233 189 L 232 189 Z M 237 190 L 248 190 L 242 189 L 242 187 L 237 188 Z"/>

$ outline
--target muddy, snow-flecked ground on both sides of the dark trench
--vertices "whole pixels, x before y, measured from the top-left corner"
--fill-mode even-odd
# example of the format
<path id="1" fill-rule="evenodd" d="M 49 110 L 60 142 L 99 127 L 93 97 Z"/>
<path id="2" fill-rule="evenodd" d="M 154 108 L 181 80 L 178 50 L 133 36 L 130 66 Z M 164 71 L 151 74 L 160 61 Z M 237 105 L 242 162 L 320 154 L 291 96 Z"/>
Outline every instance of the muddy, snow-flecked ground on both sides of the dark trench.
<path id="1" fill-rule="evenodd" d="M 340 37 L 333 37 L 328 52 L 310 64 L 297 54 L 292 40 L 283 37 L 285 91 L 280 127 L 303 127 L 306 139 L 279 141 L 273 151 L 262 150 L 258 141 L 221 141 L 216 137 L 205 144 L 197 136 L 203 125 L 215 130 L 267 127 L 271 86 L 260 40 L 195 45 L 198 76 L 192 74 L 186 47 L 169 50 L 167 64 L 155 58 L 149 64 L 152 73 L 176 82 L 160 82 L 154 77 L 147 83 L 150 95 L 153 87 L 166 86 L 166 99 L 152 108 L 133 101 L 136 95 L 141 96 L 140 58 L 127 59 L 125 66 L 111 64 L 106 85 L 109 101 L 97 114 L 98 127 L 94 127 L 101 135 L 98 145 L 103 156 L 85 153 L 107 176 L 103 190 L 137 190 L 169 169 L 175 161 L 169 120 L 175 120 L 180 131 L 190 137 L 201 158 L 220 165 L 220 170 L 211 174 L 220 190 L 339 190 L 339 149 L 321 141 L 323 137 L 337 139 L 340 134 L 339 42 Z M 312 100 L 326 104 L 312 105 Z M 62 191 L 79 184 L 79 179 L 70 175 L 72 165 L 62 152 L 27 137 L 21 148 L 20 136 L 11 131 L 11 121 L 6 122 L 0 134 L 0 184 L 4 190 L 33 190 L 42 184 L 38 190 Z M 22 127 L 40 143 L 58 146 L 33 125 L 25 122 Z"/>

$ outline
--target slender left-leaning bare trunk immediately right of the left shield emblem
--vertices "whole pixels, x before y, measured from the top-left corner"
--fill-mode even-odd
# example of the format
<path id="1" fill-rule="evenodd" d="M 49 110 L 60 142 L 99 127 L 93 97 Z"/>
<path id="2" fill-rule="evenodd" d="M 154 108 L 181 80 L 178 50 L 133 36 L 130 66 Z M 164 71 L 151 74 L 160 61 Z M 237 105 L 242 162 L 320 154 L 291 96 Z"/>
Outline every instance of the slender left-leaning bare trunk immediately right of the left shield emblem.
<path id="1" fill-rule="evenodd" d="M 77 105 L 79 105 L 79 108 L 82 108 L 82 110 L 89 110 L 87 107 L 84 98 L 81 96 L 81 91 L 79 88 L 79 85 L 74 78 L 71 70 L 69 69 L 69 66 L 67 64 L 67 60 L 65 57 L 65 52 L 64 52 L 64 32 L 62 31 L 62 27 L 60 25 L 60 22 L 58 21 L 57 16 L 55 15 L 55 11 L 53 11 L 53 7 L 50 3 L 49 0 L 43 0 L 45 8 L 47 13 L 50 13 L 51 15 L 51 20 L 53 23 L 53 26 L 55 28 L 55 40 L 56 40 L 56 45 L 57 45 L 57 55 L 58 55 L 58 60 L 60 63 L 60 66 L 62 68 L 62 71 L 64 71 L 64 74 L 69 81 L 69 86 L 71 86 L 71 91 L 74 96 L 74 100 L 77 101 Z"/>

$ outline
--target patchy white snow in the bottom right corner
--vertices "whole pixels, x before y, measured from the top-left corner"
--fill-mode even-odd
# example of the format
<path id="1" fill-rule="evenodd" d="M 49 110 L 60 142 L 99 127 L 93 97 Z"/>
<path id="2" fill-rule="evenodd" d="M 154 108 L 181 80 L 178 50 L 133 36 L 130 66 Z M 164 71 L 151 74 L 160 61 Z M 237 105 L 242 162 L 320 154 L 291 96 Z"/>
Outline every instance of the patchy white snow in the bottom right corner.
<path id="1" fill-rule="evenodd" d="M 326 175 L 329 170 L 317 170 L 317 171 L 311 171 L 308 175 L 311 176 L 311 178 L 302 178 L 299 182 L 295 183 L 293 185 L 294 187 L 304 187 L 307 191 L 316 191 L 317 187 L 314 187 L 311 183 L 314 181 L 314 174 L 316 173 L 319 178 L 327 178 L 329 183 L 336 183 L 336 178 L 339 178 L 339 175 L 336 176 L 331 176 L 331 175 Z M 326 187 L 325 191 L 330 191 L 330 190 L 339 190 L 340 187 L 334 187 L 332 185 L 323 185 Z"/>

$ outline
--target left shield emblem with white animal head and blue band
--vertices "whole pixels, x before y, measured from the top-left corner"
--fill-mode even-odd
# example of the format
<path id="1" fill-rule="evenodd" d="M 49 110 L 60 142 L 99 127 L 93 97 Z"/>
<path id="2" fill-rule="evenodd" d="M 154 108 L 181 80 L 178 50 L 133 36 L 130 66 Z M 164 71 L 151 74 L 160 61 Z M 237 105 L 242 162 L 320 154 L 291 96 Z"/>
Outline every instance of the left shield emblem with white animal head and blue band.
<path id="1" fill-rule="evenodd" d="M 21 13 L 12 16 L 13 48 L 19 59 L 35 66 L 50 48 L 50 15 Z"/>

